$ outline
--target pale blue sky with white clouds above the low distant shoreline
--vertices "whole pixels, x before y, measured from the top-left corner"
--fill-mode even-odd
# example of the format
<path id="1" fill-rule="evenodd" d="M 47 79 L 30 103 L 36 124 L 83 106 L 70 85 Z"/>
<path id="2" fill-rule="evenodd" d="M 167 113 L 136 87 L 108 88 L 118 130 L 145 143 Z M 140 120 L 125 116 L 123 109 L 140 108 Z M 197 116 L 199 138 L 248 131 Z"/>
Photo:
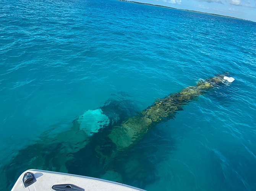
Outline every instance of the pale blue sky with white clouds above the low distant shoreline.
<path id="1" fill-rule="evenodd" d="M 256 0 L 129 0 L 231 16 L 256 22 Z"/>

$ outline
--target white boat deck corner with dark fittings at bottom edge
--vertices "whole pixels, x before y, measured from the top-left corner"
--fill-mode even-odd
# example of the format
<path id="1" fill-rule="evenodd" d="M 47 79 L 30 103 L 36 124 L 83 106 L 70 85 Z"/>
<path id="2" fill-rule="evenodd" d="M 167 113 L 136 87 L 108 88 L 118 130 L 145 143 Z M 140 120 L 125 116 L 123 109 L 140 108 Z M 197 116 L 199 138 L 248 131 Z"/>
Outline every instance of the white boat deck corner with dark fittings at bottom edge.
<path id="1" fill-rule="evenodd" d="M 11 191 L 143 191 L 122 183 L 47 170 L 26 170 Z"/>

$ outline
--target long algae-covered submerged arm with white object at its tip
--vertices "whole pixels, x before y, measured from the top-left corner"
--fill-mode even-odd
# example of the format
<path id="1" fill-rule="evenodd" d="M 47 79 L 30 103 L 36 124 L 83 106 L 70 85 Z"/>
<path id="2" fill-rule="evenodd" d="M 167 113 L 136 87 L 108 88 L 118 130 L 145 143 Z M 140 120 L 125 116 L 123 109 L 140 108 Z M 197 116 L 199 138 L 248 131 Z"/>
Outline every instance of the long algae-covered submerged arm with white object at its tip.
<path id="1" fill-rule="evenodd" d="M 153 105 L 138 113 L 138 115 L 123 121 L 120 126 L 115 126 L 109 134 L 109 138 L 117 146 L 117 150 L 124 150 L 141 140 L 149 129 L 156 126 L 164 119 L 171 119 L 177 111 L 182 110 L 183 105 L 194 100 L 199 95 L 205 94 L 215 86 L 219 86 L 227 79 L 228 73 L 200 80 L 195 86 L 188 86 L 178 93 L 170 94 L 164 99 L 156 101 Z M 230 81 L 230 82 L 231 82 Z"/>

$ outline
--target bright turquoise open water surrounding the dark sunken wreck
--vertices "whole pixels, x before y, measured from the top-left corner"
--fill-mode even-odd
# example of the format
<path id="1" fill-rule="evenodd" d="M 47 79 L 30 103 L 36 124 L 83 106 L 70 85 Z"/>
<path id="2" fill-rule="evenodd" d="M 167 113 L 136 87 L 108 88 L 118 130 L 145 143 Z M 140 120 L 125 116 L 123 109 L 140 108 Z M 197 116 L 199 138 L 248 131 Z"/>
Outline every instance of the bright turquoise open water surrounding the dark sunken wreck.
<path id="1" fill-rule="evenodd" d="M 139 111 L 229 72 L 236 79 L 230 86 L 152 129 L 127 151 L 140 162 L 127 159 L 119 173 L 123 183 L 147 190 L 256 189 L 255 22 L 115 0 L 2 0 L 0 7 L 4 176 L 42 133 L 68 130 L 115 95 Z M 133 165 L 138 176 L 129 177 Z M 27 167 L 18 169 L 15 178 Z M 2 181 L 1 190 L 13 186 Z"/>

